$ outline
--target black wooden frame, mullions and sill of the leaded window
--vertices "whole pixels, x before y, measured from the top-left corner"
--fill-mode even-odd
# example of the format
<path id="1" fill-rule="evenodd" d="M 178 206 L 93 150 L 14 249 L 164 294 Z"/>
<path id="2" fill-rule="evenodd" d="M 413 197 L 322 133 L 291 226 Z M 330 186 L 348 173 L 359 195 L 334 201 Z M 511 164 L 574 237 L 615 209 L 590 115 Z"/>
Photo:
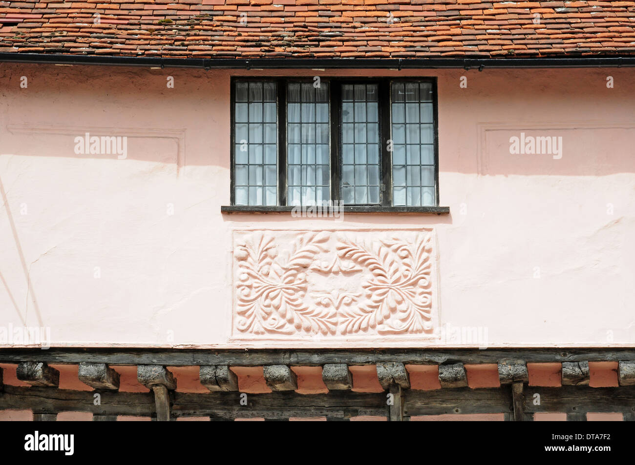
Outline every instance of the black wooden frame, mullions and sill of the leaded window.
<path id="1" fill-rule="evenodd" d="M 379 204 L 358 204 L 341 206 L 343 211 L 352 213 L 449 213 L 449 207 L 439 206 L 439 121 L 438 121 L 438 86 L 437 77 L 330 77 L 320 76 L 321 82 L 329 84 L 330 114 L 330 201 L 341 200 L 342 179 L 342 85 L 343 84 L 377 84 L 378 86 L 378 126 L 380 142 L 380 188 Z M 236 81 L 276 82 L 277 91 L 277 205 L 236 205 L 235 185 L 235 149 L 236 149 Z M 223 213 L 276 213 L 288 212 L 297 206 L 287 205 L 287 84 L 291 82 L 312 82 L 307 76 L 232 76 L 230 80 L 231 102 L 231 155 L 230 155 L 230 205 L 222 206 Z M 392 205 L 392 152 L 388 150 L 391 139 L 391 83 L 395 82 L 427 82 L 432 86 L 432 117 L 434 128 L 434 183 L 436 202 L 433 206 L 393 206 Z"/>

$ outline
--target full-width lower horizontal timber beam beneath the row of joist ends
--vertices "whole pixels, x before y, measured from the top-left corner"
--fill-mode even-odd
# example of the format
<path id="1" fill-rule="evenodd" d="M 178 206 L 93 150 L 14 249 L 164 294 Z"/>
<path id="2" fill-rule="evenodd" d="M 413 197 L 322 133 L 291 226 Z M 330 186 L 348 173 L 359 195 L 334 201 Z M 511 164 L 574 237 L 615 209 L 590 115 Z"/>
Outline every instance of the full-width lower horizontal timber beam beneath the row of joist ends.
<path id="1" fill-rule="evenodd" d="M 402 391 L 403 393 L 403 391 Z M 531 395 L 540 394 L 541 405 L 533 405 Z M 622 388 L 590 388 L 563 386 L 542 388 L 532 386 L 527 391 L 525 421 L 535 412 L 622 412 L 625 419 L 634 419 L 635 386 Z M 32 409 L 34 414 L 51 412 L 91 412 L 93 415 L 154 416 L 156 405 L 152 393 L 122 393 L 103 391 L 101 405 L 93 404 L 91 391 L 70 391 L 42 387 L 25 388 L 5 385 L 0 393 L 0 410 Z M 328 394 L 301 395 L 293 391 L 249 394 L 247 405 L 241 405 L 239 393 L 171 393 L 174 417 L 210 416 L 211 419 L 239 417 L 317 417 L 345 419 L 358 415 L 386 416 L 386 393 L 355 393 L 330 391 Z M 403 416 L 441 414 L 488 414 L 514 412 L 511 389 L 471 389 L 418 391 L 409 390 L 402 396 Z M 99 421 L 99 420 L 97 420 Z"/>

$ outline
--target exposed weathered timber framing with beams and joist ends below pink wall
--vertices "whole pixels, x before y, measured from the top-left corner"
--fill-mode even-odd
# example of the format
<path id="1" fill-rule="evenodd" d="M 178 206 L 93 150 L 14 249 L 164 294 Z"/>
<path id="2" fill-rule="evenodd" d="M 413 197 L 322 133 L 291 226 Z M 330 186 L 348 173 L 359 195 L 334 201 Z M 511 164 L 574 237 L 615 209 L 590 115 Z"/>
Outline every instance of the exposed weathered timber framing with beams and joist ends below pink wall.
<path id="1" fill-rule="evenodd" d="M 51 349 L 53 350 L 53 349 Z M 18 379 L 31 387 L 1 383 L 0 410 L 32 410 L 36 421 L 55 421 L 59 412 L 90 412 L 93 421 L 116 421 L 117 416 L 149 416 L 159 421 L 178 417 L 208 416 L 212 421 L 260 417 L 280 421 L 290 417 L 326 417 L 328 421 L 346 421 L 356 416 L 383 416 L 389 421 L 408 421 L 413 416 L 440 414 L 503 414 L 507 421 L 531 421 L 539 412 L 561 412 L 569 421 L 585 421 L 588 412 L 621 412 L 624 419 L 635 421 L 635 357 L 632 349 L 615 351 L 575 350 L 258 350 L 243 351 L 243 360 L 236 351 L 192 351 L 185 362 L 180 351 L 174 350 L 57 350 L 37 351 L 39 362 L 27 357 L 16 359 L 17 353 L 31 355 L 28 350 L 0 350 L 0 362 L 17 362 Z M 113 360 L 109 360 L 107 355 Z M 259 365 L 265 356 L 267 363 Z M 390 360 L 393 355 L 397 360 Z M 528 369 L 521 356 L 542 362 L 563 362 L 563 386 L 545 388 L 528 386 Z M 51 357 L 51 358 L 43 358 Z M 76 362 L 71 362 L 74 357 Z M 98 357 L 104 357 L 100 360 Z M 142 360 L 137 364 L 137 378 L 150 392 L 133 393 L 117 390 L 119 380 L 111 365 Z M 223 358 L 225 357 L 225 358 Z M 353 362 L 342 362 L 347 357 Z M 497 358 L 498 357 L 498 358 Z M 62 360 L 60 360 L 60 358 Z M 579 358 L 579 360 L 578 360 Z M 7 360 L 9 359 L 9 360 Z M 206 364 L 208 360 L 237 360 L 237 363 Z M 441 389 L 413 389 L 404 360 L 430 365 L 438 363 Z M 467 387 L 464 363 L 496 360 L 500 388 Z M 565 360 L 563 360 L 565 359 Z M 615 388 L 591 388 L 588 385 L 588 360 L 619 362 Z M 182 363 L 173 363 L 181 360 Z M 272 363 L 272 361 L 284 363 Z M 325 394 L 297 393 L 298 381 L 291 366 L 320 365 L 322 379 L 328 388 Z M 336 362 L 332 362 L 336 360 Z M 349 365 L 365 360 L 375 365 L 377 381 L 384 388 L 380 393 L 356 392 Z M 451 362 L 448 362 L 448 360 Z M 47 363 L 76 363 L 78 377 L 97 389 L 100 405 L 94 405 L 95 391 L 75 391 L 57 388 L 59 373 Z M 249 362 L 249 363 L 248 363 Z M 166 366 L 198 366 L 199 379 L 207 393 L 180 393 Z M 238 379 L 231 366 L 262 366 L 265 382 L 271 393 L 240 393 Z M 244 396 L 247 402 L 243 402 Z M 532 400 L 540 398 L 540 402 Z"/>

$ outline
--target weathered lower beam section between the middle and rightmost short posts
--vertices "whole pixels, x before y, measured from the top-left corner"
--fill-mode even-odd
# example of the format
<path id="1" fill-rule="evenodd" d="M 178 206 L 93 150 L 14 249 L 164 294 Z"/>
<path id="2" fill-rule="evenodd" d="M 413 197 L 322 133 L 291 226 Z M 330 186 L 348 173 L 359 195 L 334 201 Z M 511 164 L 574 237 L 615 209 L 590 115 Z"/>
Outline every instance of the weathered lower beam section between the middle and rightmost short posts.
<path id="1" fill-rule="evenodd" d="M 499 414 L 513 412 L 509 389 L 457 388 L 410 390 L 404 396 L 404 416 L 444 414 Z"/>

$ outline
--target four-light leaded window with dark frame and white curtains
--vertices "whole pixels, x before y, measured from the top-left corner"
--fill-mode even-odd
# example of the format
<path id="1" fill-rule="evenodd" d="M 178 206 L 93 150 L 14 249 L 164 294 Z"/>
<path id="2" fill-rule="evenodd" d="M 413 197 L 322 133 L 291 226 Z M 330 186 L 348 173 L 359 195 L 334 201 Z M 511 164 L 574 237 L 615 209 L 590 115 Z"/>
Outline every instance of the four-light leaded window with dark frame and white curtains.
<path id="1" fill-rule="evenodd" d="M 446 211 L 434 79 L 237 78 L 231 124 L 232 206 Z"/>

